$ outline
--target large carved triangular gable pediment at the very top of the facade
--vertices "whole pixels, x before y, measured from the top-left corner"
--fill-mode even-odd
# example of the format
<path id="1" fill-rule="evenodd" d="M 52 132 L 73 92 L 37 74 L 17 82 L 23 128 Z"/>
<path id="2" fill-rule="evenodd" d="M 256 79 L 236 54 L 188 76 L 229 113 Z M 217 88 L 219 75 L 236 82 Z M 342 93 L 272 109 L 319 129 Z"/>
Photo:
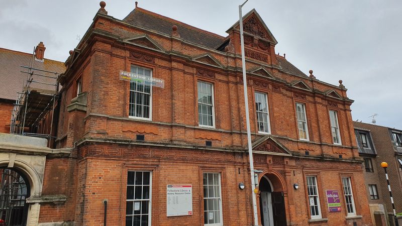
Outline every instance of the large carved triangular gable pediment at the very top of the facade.
<path id="1" fill-rule="evenodd" d="M 234 28 L 240 29 L 239 21 L 237 21 L 226 32 L 229 32 Z M 243 16 L 243 30 L 248 34 L 265 39 L 271 43 L 274 43 L 275 45 L 278 43 L 255 9 Z"/>

